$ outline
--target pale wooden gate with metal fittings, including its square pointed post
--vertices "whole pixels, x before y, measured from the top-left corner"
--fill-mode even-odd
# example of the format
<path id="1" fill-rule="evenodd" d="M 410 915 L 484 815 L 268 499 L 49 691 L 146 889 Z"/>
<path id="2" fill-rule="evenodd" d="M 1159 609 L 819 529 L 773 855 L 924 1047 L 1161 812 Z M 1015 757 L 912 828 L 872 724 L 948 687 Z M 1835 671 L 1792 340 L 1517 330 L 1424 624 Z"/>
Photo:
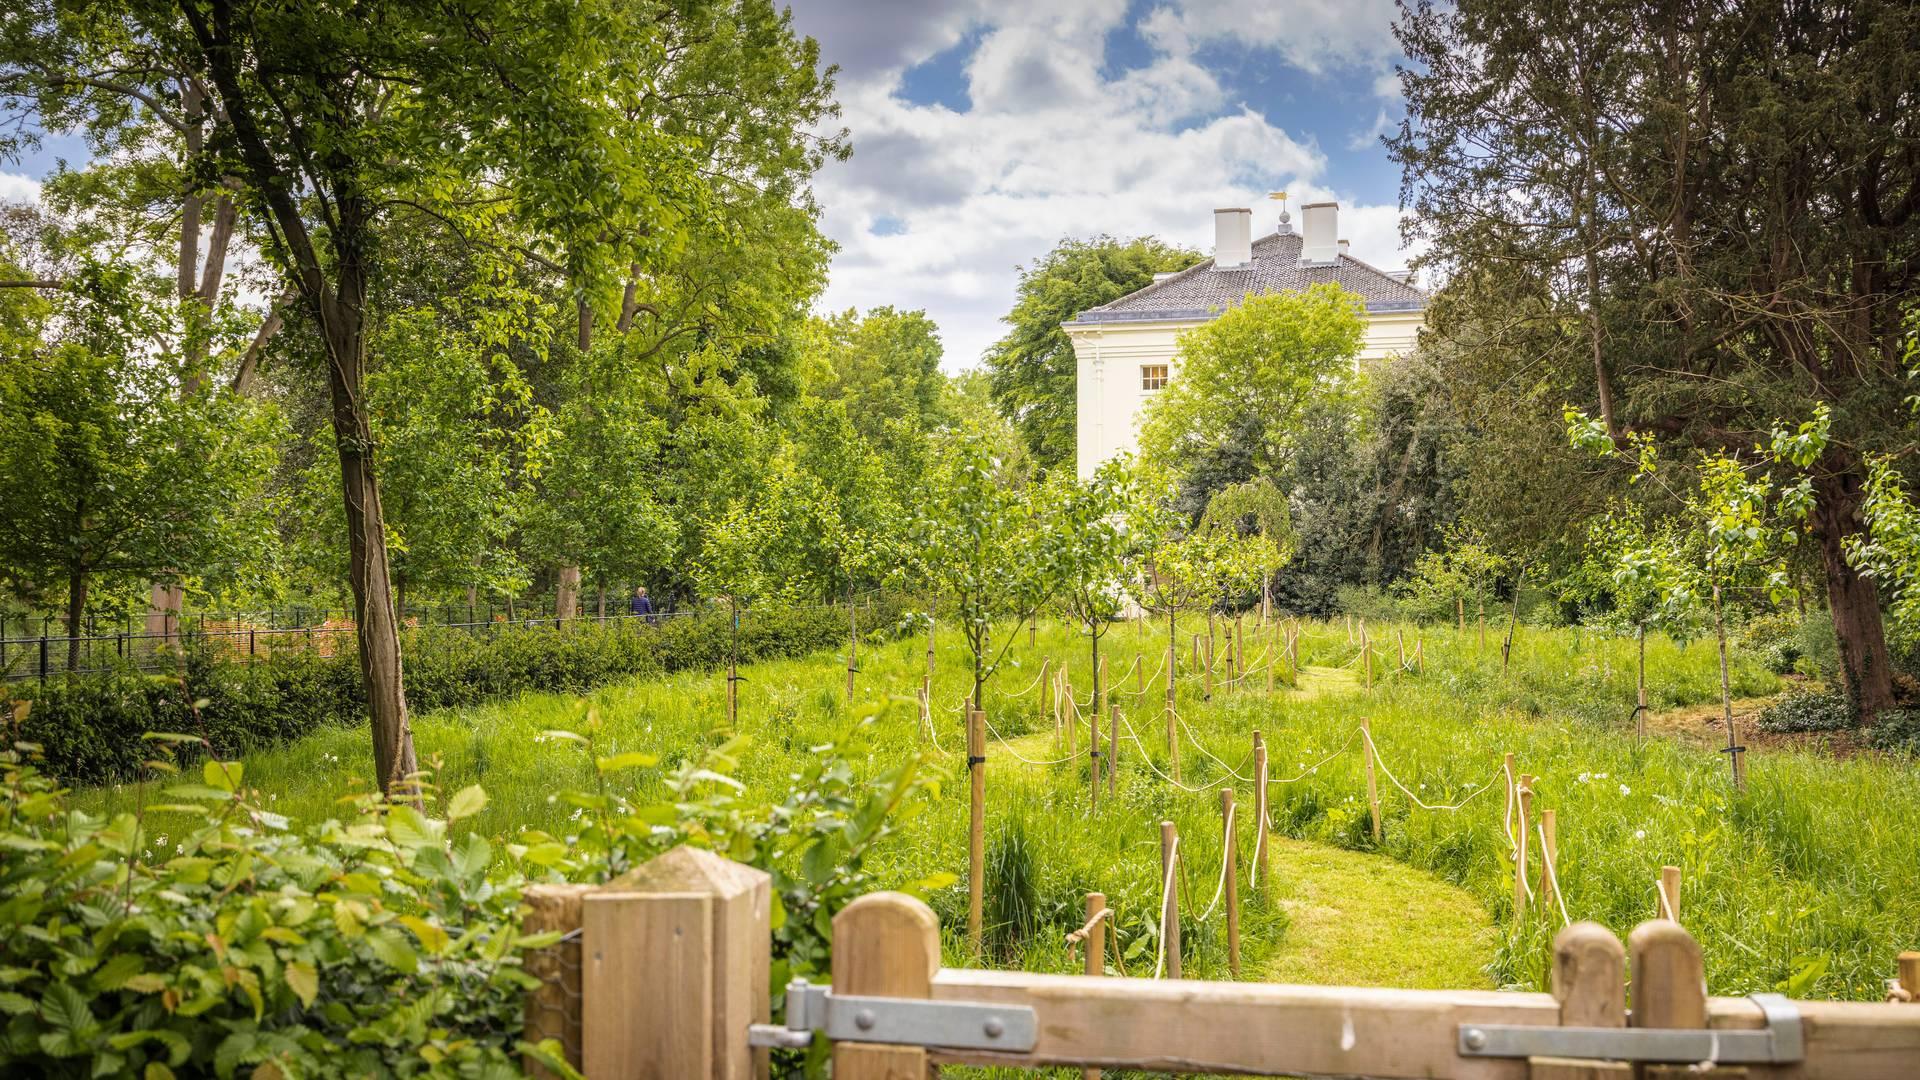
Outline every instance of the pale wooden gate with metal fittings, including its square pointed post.
<path id="1" fill-rule="evenodd" d="M 766 1076 L 766 1045 L 829 1034 L 835 1080 L 920 1080 L 960 1063 L 1457 1080 L 1920 1078 L 1920 1005 L 1709 997 L 1699 945 L 1665 919 L 1642 922 L 1624 945 L 1599 924 L 1569 926 L 1555 940 L 1551 994 L 1369 990 L 941 969 L 933 911 L 881 892 L 833 919 L 831 990 L 789 988 L 789 1024 L 772 1026 L 766 874 L 680 847 L 601 890 L 553 888 L 570 890 L 566 903 L 534 899 L 578 911 L 578 986 L 530 997 L 528 1038 L 578 1045 L 574 1065 L 591 1080 L 747 1080 Z M 564 976 L 568 967 L 541 970 Z M 1901 980 L 1920 982 L 1920 955 L 1903 957 Z M 566 999 L 582 1005 L 572 1043 L 551 1011 Z"/>

